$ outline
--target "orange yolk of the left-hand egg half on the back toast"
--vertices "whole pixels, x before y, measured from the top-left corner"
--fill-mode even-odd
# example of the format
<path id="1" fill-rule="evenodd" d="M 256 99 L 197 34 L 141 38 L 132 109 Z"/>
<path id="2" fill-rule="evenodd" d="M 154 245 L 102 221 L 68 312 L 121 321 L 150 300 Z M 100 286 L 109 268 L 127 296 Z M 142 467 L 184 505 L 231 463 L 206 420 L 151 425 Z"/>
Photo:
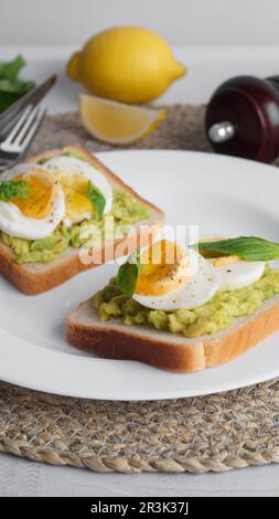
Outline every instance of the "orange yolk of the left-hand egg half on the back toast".
<path id="1" fill-rule="evenodd" d="M 25 174 L 14 177 L 13 180 L 24 180 L 29 184 L 29 195 L 26 200 L 12 199 L 11 202 L 28 218 L 36 220 L 46 218 L 56 198 L 57 180 L 35 168 Z"/>

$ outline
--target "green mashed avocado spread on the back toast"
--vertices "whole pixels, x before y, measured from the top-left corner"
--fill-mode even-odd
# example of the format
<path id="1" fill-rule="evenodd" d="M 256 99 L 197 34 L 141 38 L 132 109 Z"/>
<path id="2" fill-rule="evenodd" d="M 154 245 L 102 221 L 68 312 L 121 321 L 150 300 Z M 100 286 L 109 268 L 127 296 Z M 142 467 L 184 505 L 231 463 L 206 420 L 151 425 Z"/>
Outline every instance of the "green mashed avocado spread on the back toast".
<path id="1" fill-rule="evenodd" d="M 77 153 L 67 153 L 84 160 Z M 43 165 L 49 160 L 47 157 L 40 159 L 39 163 Z M 114 201 L 111 212 L 106 216 L 114 218 L 115 235 L 125 234 L 125 226 L 132 225 L 136 222 L 149 218 L 149 210 L 142 203 L 139 203 L 130 194 L 121 190 L 114 190 Z M 67 247 L 79 248 L 88 241 L 86 236 L 86 227 L 96 225 L 104 235 L 105 219 L 92 219 L 82 223 L 73 224 L 71 227 L 61 223 L 51 236 L 44 240 L 23 240 L 10 236 L 0 232 L 0 241 L 12 248 L 19 264 L 25 263 L 49 263 L 54 261 Z"/>

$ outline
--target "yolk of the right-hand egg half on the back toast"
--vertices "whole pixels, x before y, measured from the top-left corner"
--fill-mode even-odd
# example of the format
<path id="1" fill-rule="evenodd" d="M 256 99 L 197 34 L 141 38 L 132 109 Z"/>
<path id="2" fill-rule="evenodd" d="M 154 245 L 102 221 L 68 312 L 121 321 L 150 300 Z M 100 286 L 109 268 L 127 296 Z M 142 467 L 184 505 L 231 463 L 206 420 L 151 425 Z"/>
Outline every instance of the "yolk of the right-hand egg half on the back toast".
<path id="1" fill-rule="evenodd" d="M 93 213 L 93 204 L 88 199 L 88 180 L 81 174 L 58 173 L 66 203 L 66 216 L 72 220 Z"/>

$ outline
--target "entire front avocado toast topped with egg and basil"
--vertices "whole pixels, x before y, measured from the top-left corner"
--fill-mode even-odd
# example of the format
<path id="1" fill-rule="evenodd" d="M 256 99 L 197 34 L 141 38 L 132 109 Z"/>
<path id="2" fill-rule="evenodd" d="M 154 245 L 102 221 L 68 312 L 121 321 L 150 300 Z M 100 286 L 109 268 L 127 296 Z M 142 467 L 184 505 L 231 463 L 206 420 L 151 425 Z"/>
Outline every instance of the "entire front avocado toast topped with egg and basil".
<path id="1" fill-rule="evenodd" d="M 267 262 L 278 257 L 279 245 L 242 236 L 200 246 L 192 276 L 185 262 L 192 247 L 175 252 L 169 264 L 164 254 L 161 263 L 146 264 L 144 251 L 132 271 L 127 262 L 68 315 L 69 343 L 101 357 L 196 371 L 229 361 L 277 331 L 279 271 Z"/>

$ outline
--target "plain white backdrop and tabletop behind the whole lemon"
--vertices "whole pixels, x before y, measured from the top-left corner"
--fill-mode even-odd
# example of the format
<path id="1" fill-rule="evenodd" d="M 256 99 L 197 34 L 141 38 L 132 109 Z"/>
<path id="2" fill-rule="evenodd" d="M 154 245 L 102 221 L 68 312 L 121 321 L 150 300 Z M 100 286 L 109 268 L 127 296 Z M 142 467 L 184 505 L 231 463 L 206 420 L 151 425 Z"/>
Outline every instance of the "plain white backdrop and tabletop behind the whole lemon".
<path id="1" fill-rule="evenodd" d="M 52 113 L 77 109 L 82 87 L 65 76 L 72 53 L 119 24 L 158 31 L 189 68 L 158 103 L 207 103 L 230 76 L 279 73 L 278 0 L 0 0 L 0 59 L 21 53 L 29 80 L 58 75 Z"/>

